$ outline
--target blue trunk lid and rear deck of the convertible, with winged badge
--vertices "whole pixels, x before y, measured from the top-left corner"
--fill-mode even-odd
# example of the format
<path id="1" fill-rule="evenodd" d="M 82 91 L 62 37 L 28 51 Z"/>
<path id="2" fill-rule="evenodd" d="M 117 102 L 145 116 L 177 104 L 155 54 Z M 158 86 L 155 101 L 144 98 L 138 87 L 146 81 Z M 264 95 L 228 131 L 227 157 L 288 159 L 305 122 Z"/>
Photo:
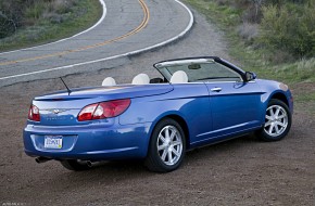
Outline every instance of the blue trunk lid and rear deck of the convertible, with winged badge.
<path id="1" fill-rule="evenodd" d="M 42 126 L 84 125 L 77 115 L 87 105 L 111 100 L 134 99 L 164 94 L 173 90 L 168 83 L 147 86 L 117 86 L 74 89 L 71 93 L 60 91 L 35 98 L 33 104 L 39 108 Z"/>

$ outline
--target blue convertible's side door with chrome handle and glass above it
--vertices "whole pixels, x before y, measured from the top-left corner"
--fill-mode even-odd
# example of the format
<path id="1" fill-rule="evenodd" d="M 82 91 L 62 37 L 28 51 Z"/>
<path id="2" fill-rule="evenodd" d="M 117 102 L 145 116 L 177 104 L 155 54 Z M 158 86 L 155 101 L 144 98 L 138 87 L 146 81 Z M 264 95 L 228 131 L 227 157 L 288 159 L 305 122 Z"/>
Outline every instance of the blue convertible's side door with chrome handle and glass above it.
<path id="1" fill-rule="evenodd" d="M 219 63 L 205 65 L 204 82 L 212 111 L 212 138 L 260 127 L 261 89 L 255 81 L 243 81 L 240 72 Z"/>

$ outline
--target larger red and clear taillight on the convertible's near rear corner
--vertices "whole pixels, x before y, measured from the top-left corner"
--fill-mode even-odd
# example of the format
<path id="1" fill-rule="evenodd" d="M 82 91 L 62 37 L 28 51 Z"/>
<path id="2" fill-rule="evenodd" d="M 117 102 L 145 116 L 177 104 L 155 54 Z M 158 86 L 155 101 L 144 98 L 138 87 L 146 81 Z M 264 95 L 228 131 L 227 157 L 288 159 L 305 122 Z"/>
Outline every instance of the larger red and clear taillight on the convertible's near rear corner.
<path id="1" fill-rule="evenodd" d="M 79 121 L 116 117 L 123 114 L 130 105 L 130 100 L 113 100 L 87 105 L 78 114 Z"/>

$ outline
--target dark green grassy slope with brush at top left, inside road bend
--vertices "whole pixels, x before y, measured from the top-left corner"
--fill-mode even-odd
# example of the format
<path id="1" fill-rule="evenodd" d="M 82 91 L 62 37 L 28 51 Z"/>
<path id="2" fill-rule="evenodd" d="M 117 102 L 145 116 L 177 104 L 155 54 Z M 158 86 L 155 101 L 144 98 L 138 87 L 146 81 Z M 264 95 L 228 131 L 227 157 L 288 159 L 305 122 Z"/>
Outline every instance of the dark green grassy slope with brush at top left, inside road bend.
<path id="1" fill-rule="evenodd" d="M 68 37 L 101 12 L 96 0 L 0 0 L 0 51 Z"/>

